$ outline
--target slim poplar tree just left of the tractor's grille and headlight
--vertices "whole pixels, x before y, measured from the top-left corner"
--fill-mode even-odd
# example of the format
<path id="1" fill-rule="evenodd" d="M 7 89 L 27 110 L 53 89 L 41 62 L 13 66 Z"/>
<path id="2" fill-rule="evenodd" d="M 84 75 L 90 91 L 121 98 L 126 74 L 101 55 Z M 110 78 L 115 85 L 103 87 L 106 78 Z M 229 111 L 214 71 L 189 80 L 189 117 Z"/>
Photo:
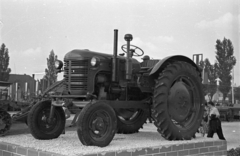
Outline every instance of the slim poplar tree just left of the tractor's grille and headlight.
<path id="1" fill-rule="evenodd" d="M 47 69 L 45 69 L 44 79 L 47 81 L 47 86 L 51 86 L 57 81 L 57 72 L 55 68 L 55 61 L 57 60 L 57 55 L 54 54 L 52 50 L 50 52 L 49 58 L 47 58 Z"/>

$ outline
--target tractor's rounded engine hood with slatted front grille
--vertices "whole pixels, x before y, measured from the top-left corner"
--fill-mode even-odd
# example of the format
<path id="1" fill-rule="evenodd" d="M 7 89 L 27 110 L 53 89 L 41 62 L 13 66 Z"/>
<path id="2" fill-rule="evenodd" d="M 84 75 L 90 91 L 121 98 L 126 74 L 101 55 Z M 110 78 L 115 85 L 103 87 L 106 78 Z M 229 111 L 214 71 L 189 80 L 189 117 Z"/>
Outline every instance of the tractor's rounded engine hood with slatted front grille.
<path id="1" fill-rule="evenodd" d="M 91 61 L 95 58 L 95 65 Z M 124 80 L 126 75 L 126 57 L 117 56 L 119 68 L 119 79 Z M 140 70 L 140 63 L 133 58 L 132 70 L 138 72 Z M 71 95 L 85 96 L 87 93 L 94 92 L 95 77 L 99 72 L 112 73 L 113 55 L 83 50 L 72 50 L 64 57 L 64 79 L 65 88 Z M 93 61 L 94 62 L 94 61 Z"/>

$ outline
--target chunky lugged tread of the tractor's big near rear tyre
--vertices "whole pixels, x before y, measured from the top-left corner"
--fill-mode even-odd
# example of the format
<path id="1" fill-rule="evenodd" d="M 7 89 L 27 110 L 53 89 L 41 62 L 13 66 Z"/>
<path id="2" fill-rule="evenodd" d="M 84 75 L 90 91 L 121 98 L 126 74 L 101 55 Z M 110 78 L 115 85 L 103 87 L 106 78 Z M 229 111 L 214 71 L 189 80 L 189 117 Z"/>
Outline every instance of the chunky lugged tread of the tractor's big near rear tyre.
<path id="1" fill-rule="evenodd" d="M 182 135 L 180 132 L 177 132 L 176 129 L 172 130 L 172 126 L 170 126 L 170 123 L 168 122 L 169 119 L 167 119 L 168 112 L 166 110 L 166 105 L 167 105 L 168 88 L 171 87 L 170 85 L 171 85 L 171 81 L 174 78 L 174 73 L 177 73 L 177 71 L 183 70 L 183 69 L 190 72 L 194 77 L 197 77 L 196 81 L 198 81 L 198 83 L 201 82 L 200 73 L 196 71 L 196 68 L 194 68 L 193 66 L 185 62 L 174 62 L 173 64 L 169 64 L 162 71 L 162 73 L 159 74 L 159 77 L 157 78 L 157 82 L 155 85 L 154 96 L 153 96 L 154 99 L 153 99 L 153 106 L 152 106 L 152 109 L 154 110 L 152 114 L 155 121 L 154 125 L 157 127 L 158 132 L 161 133 L 161 135 L 168 140 L 191 139 L 189 134 Z M 202 90 L 202 88 L 200 89 Z M 193 135 L 193 131 L 190 132 L 190 135 Z"/>

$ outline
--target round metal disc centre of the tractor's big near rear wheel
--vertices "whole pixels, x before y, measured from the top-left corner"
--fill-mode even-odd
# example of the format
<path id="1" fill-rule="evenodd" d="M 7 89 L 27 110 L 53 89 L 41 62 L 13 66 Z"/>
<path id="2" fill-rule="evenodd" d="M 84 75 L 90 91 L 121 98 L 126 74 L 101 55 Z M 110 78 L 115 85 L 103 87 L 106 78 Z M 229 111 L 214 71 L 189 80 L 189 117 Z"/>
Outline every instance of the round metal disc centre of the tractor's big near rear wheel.
<path id="1" fill-rule="evenodd" d="M 177 82 L 170 90 L 168 97 L 169 114 L 172 119 L 182 122 L 187 119 L 191 110 L 191 94 L 183 82 Z"/>

